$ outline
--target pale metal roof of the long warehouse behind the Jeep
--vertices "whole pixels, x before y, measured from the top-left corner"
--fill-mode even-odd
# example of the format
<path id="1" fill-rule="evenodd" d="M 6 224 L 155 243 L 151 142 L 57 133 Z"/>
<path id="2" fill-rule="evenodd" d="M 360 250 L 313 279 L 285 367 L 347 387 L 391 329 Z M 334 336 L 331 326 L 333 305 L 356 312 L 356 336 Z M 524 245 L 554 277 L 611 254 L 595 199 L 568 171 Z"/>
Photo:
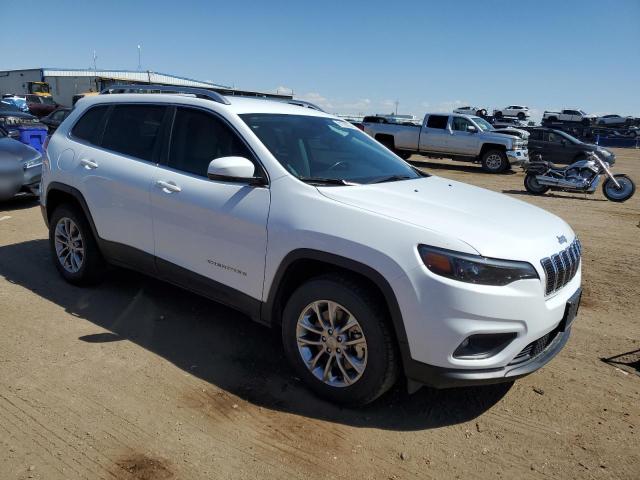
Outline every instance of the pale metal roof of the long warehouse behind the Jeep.
<path id="1" fill-rule="evenodd" d="M 135 70 L 82 70 L 82 69 L 59 69 L 59 68 L 43 68 L 42 76 L 44 77 L 101 77 L 114 80 L 159 83 L 164 85 L 179 85 L 182 87 L 200 87 L 200 88 L 225 88 L 232 89 L 226 85 L 217 83 L 202 82 L 191 78 L 177 77 L 167 73 L 151 72 L 151 71 L 135 71 Z"/>

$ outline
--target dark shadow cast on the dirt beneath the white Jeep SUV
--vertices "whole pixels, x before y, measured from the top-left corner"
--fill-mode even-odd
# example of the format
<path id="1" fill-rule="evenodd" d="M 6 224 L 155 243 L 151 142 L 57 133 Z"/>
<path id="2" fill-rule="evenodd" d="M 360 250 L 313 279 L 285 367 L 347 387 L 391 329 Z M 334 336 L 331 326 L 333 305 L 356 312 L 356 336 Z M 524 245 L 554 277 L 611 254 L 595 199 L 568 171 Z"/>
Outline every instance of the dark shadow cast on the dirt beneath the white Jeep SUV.
<path id="1" fill-rule="evenodd" d="M 261 407 L 351 426 L 421 430 L 472 420 L 495 405 L 511 386 L 423 388 L 407 395 L 398 385 L 367 407 L 340 408 L 318 399 L 295 378 L 276 329 L 126 270 L 110 270 L 96 287 L 74 287 L 58 275 L 47 243 L 32 240 L 0 247 L 0 275 L 100 327 L 78 341 L 108 348 L 109 342 L 129 340 Z M 56 321 L 52 316 L 52 329 Z M 188 395 L 185 392 L 185 401 Z"/>

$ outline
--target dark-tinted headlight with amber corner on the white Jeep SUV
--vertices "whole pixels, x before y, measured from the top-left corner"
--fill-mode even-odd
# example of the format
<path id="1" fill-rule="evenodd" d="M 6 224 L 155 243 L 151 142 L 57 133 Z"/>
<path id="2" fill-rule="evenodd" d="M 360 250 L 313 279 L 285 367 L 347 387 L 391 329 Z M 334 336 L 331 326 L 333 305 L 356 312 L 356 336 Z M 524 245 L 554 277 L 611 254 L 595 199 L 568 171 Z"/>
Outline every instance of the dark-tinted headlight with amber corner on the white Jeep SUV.
<path id="1" fill-rule="evenodd" d="M 536 269 L 527 262 L 485 258 L 426 245 L 419 245 L 418 252 L 430 271 L 460 282 L 502 286 L 539 278 Z"/>

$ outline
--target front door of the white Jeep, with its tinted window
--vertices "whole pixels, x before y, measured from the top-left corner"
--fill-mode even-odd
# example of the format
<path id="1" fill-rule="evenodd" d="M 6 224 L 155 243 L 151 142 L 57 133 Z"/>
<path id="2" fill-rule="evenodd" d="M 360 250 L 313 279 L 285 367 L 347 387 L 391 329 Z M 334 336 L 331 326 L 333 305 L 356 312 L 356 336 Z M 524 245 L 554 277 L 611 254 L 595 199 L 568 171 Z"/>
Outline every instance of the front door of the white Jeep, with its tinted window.
<path id="1" fill-rule="evenodd" d="M 227 156 L 248 158 L 259 168 L 224 120 L 177 107 L 167 162 L 156 170 L 151 204 L 161 274 L 196 291 L 210 288 L 201 293 L 233 305 L 237 292 L 262 299 L 270 192 L 209 180 L 209 162 Z"/>

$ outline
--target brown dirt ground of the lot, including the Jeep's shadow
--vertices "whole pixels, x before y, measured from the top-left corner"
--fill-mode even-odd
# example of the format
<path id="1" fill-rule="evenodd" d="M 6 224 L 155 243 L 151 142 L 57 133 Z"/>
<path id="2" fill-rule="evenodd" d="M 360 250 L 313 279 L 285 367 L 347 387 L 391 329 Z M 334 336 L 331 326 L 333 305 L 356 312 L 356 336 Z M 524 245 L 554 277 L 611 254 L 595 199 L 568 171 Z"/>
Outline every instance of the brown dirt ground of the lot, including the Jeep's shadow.
<path id="1" fill-rule="evenodd" d="M 640 150 L 616 153 L 640 181 Z M 420 165 L 577 231 L 584 303 L 545 368 L 337 408 L 232 310 L 123 270 L 65 284 L 37 203 L 15 199 L 0 204 L 0 478 L 640 478 L 640 192 L 532 197 L 521 171 Z"/>

